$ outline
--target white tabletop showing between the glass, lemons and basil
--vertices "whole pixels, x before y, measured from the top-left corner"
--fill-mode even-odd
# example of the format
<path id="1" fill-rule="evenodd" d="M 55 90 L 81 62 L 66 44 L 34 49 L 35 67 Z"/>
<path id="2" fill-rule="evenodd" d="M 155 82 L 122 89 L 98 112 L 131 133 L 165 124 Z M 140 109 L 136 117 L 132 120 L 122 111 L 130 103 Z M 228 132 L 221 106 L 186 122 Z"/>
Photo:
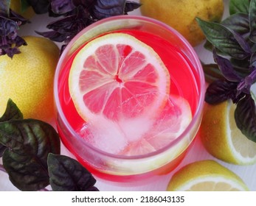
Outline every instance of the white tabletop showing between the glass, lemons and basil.
<path id="1" fill-rule="evenodd" d="M 227 5 L 228 1 L 224 0 L 225 2 L 225 8 L 227 14 Z M 139 14 L 139 10 L 136 10 L 134 13 L 130 14 Z M 53 19 L 55 20 L 55 19 Z M 37 15 L 35 18 L 32 18 L 32 24 L 26 25 L 21 27 L 21 35 L 36 35 L 35 30 L 37 31 L 46 31 L 46 24 L 49 21 L 49 18 L 46 15 Z M 195 48 L 199 58 L 204 63 L 212 63 L 212 53 L 206 51 L 203 48 L 203 45 L 199 45 Z M 62 154 L 69 154 L 69 152 L 62 146 L 61 148 Z M 194 142 L 193 146 L 191 147 L 190 151 L 187 153 L 187 156 L 184 158 L 184 160 L 181 162 L 178 168 L 176 168 L 174 171 L 172 171 L 170 174 L 163 175 L 161 177 L 157 177 L 156 180 L 151 182 L 151 180 L 148 181 L 145 185 L 140 186 L 131 186 L 128 184 L 122 184 L 122 185 L 116 185 L 116 183 L 113 182 L 104 182 L 102 180 L 97 180 L 96 186 L 100 191 L 165 191 L 167 187 L 167 183 L 169 182 L 170 178 L 172 177 L 173 173 L 175 173 L 181 166 L 187 165 L 187 163 L 192 163 L 197 160 L 216 160 L 218 163 L 221 163 L 221 165 L 226 166 L 226 168 L 229 168 L 230 170 L 234 171 L 235 174 L 238 174 L 239 177 L 246 183 L 246 185 L 249 187 L 249 190 L 256 191 L 256 165 L 254 166 L 235 166 L 232 164 L 224 163 L 220 160 L 215 159 L 210 154 L 206 152 L 204 147 L 201 145 L 200 139 L 196 138 L 196 141 Z M 1 163 L 1 160 L 0 160 Z M 8 180 L 7 174 L 4 174 L 4 172 L 0 171 L 0 191 L 18 191 L 17 188 L 15 188 L 12 183 Z"/>

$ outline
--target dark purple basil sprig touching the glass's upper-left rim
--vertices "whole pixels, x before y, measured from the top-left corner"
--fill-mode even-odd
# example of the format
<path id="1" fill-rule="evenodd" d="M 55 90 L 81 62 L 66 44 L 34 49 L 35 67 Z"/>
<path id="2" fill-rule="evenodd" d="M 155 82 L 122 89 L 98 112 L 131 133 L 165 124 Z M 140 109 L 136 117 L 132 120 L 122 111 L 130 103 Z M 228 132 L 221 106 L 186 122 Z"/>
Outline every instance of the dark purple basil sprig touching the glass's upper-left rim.
<path id="1" fill-rule="evenodd" d="M 51 32 L 37 32 L 54 41 L 69 43 L 82 29 L 94 22 L 114 15 L 125 15 L 140 6 L 139 3 L 126 0 L 52 0 L 49 15 L 60 17 L 46 27 Z M 55 12 L 55 13 L 54 13 Z M 66 47 L 62 46 L 61 51 Z"/>

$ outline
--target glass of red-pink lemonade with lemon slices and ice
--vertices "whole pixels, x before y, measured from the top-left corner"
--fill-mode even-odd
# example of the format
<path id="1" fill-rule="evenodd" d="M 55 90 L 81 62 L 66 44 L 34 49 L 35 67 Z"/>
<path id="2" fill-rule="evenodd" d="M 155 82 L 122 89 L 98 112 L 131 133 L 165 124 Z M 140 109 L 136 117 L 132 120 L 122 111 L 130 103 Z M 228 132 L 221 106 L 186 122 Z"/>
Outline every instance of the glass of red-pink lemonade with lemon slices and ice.
<path id="1" fill-rule="evenodd" d="M 204 74 L 178 32 L 106 18 L 80 32 L 55 74 L 61 141 L 92 174 L 135 182 L 179 165 L 201 123 Z"/>

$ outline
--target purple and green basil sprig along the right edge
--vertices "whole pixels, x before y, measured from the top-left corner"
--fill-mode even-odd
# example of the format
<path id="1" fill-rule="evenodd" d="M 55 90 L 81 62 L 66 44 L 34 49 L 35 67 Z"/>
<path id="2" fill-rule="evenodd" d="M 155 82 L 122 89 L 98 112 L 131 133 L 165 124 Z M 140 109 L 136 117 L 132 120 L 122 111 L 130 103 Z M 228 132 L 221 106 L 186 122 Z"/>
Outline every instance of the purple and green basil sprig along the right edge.
<path id="1" fill-rule="evenodd" d="M 203 65 L 210 85 L 205 101 L 237 104 L 235 122 L 243 135 L 256 142 L 256 107 L 252 85 L 256 82 L 256 0 L 230 0 L 229 16 L 221 23 L 197 18 L 215 64 Z"/>

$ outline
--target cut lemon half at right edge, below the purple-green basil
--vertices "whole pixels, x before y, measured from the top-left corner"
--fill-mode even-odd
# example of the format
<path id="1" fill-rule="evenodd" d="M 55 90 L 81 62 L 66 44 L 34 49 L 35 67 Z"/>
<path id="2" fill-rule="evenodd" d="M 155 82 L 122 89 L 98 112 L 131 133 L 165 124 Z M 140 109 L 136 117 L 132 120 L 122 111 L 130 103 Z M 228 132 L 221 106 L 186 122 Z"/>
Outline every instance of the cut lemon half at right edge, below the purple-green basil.
<path id="1" fill-rule="evenodd" d="M 235 104 L 231 101 L 204 107 L 200 136 L 204 147 L 220 160 L 238 165 L 256 163 L 256 143 L 235 124 Z"/>

